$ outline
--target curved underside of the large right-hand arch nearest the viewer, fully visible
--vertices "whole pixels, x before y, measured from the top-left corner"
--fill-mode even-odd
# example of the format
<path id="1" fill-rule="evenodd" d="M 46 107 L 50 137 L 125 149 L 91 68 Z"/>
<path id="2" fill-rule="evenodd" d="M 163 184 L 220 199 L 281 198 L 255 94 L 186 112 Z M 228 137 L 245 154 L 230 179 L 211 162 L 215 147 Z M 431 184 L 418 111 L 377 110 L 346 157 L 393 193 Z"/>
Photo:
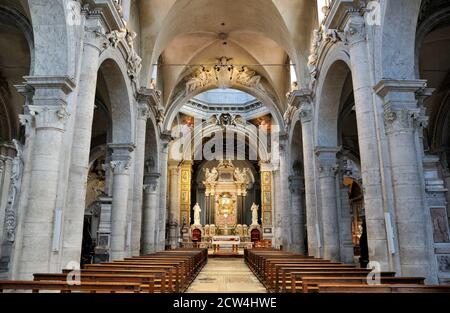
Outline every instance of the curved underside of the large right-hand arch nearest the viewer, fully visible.
<path id="1" fill-rule="evenodd" d="M 346 77 L 351 73 L 348 54 L 342 49 L 333 48 L 321 71 L 316 96 L 316 145 L 336 147 L 341 96 Z"/>

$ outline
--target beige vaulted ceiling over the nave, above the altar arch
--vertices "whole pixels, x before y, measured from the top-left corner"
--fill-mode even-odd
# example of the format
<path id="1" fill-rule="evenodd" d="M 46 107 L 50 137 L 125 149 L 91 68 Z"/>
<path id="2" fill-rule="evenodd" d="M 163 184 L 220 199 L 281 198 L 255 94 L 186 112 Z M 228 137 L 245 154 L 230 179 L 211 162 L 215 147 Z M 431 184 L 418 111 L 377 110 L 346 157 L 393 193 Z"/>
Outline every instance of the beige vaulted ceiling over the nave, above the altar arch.
<path id="1" fill-rule="evenodd" d="M 312 29 L 317 25 L 315 0 L 140 0 L 139 20 L 143 75 L 152 65 L 163 77 L 168 105 L 186 65 L 249 65 L 271 86 L 283 111 L 289 88 L 289 62 L 299 81 L 306 81 Z M 150 83 L 150 82 L 148 82 Z"/>

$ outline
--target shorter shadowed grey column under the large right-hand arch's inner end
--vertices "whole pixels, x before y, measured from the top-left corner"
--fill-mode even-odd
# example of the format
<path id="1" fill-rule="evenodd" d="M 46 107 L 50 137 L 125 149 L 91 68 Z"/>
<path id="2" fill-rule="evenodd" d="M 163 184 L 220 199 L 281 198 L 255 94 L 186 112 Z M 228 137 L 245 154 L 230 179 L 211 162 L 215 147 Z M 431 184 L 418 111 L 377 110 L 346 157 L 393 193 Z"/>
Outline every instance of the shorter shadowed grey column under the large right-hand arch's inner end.
<path id="1" fill-rule="evenodd" d="M 317 147 L 315 152 L 319 163 L 319 183 L 323 229 L 323 257 L 339 261 L 339 223 L 336 194 L 337 159 L 336 147 Z"/>

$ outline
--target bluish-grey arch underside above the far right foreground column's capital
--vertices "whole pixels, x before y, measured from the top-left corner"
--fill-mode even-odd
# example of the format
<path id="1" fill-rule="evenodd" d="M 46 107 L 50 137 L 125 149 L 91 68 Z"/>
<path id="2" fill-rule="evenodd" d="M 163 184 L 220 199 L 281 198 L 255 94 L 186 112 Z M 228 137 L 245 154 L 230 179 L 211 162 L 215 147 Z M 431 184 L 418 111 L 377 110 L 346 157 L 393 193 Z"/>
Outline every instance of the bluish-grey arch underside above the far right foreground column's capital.
<path id="1" fill-rule="evenodd" d="M 379 79 L 415 79 L 416 28 L 422 0 L 386 0 L 381 23 Z"/>

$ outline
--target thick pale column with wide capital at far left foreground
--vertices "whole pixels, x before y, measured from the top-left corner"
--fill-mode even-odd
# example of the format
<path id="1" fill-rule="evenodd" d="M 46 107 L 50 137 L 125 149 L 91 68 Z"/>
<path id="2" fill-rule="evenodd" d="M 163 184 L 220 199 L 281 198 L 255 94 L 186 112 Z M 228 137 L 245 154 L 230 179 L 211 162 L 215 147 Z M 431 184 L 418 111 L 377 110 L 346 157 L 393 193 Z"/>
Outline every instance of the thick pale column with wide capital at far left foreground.
<path id="1" fill-rule="evenodd" d="M 68 77 L 26 77 L 34 88 L 34 135 L 30 190 L 24 215 L 18 278 L 32 279 L 36 272 L 50 272 L 51 256 L 59 234 L 54 230 L 63 135 L 69 113 L 67 96 L 75 87 Z M 57 221 L 58 222 L 58 221 Z M 58 236 L 58 237 L 56 237 Z"/>

